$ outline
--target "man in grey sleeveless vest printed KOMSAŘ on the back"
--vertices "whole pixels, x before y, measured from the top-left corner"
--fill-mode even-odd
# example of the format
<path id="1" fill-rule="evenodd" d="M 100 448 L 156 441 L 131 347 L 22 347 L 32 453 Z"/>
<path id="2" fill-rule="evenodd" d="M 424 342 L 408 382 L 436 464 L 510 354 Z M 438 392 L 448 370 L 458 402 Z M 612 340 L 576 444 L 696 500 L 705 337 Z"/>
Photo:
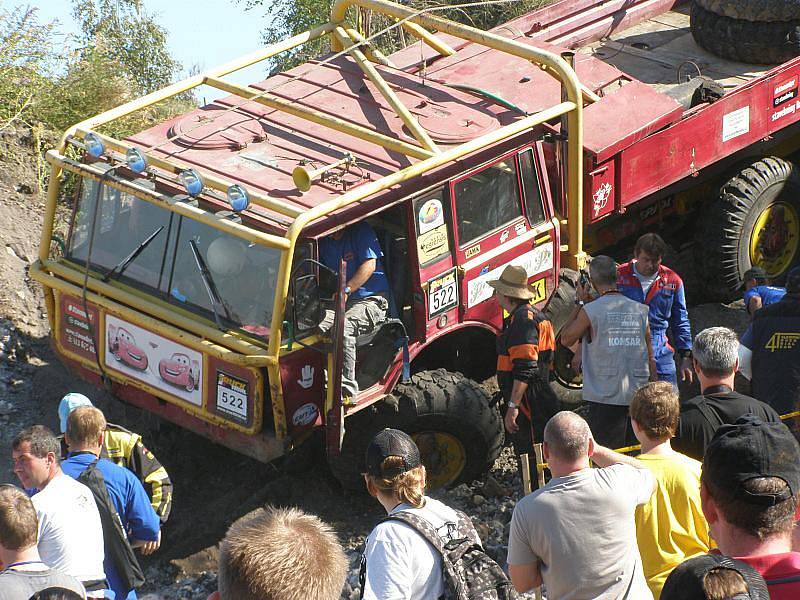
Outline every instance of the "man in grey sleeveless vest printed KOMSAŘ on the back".
<path id="1" fill-rule="evenodd" d="M 598 296 L 578 284 L 575 310 L 561 331 L 565 346 L 581 341 L 586 420 L 598 442 L 611 448 L 636 443 L 628 406 L 634 392 L 658 376 L 650 343 L 648 308 L 617 290 L 617 264 L 596 256 L 589 277 Z"/>

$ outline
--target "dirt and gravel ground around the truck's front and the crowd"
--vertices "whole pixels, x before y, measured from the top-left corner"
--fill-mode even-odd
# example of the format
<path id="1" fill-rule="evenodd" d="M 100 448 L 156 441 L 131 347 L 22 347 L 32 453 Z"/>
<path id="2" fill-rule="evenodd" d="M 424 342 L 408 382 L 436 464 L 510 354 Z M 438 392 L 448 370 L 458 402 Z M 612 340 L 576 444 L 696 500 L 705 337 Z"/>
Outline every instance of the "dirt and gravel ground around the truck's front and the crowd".
<path id="1" fill-rule="evenodd" d="M 0 482 L 15 482 L 10 441 L 20 429 L 57 427 L 56 406 L 68 391 L 93 398 L 110 421 L 144 435 L 175 483 L 172 517 L 156 557 L 145 562 L 148 583 L 140 597 L 205 598 L 215 588 L 216 544 L 236 519 L 264 504 L 296 505 L 331 522 L 348 551 L 351 573 L 342 598 L 357 598 L 359 552 L 381 516 L 379 505 L 343 493 L 324 466 L 303 472 L 264 465 L 215 446 L 152 415 L 126 407 L 72 376 L 48 345 L 48 324 L 38 285 L 28 265 L 38 253 L 44 194 L 38 159 L 26 131 L 0 135 Z M 739 305 L 692 308 L 693 329 L 727 325 L 742 331 Z M 694 386 L 682 395 L 696 393 Z M 520 489 L 508 448 L 484 479 L 436 494 L 475 521 L 487 551 L 504 563 L 508 523 Z"/>

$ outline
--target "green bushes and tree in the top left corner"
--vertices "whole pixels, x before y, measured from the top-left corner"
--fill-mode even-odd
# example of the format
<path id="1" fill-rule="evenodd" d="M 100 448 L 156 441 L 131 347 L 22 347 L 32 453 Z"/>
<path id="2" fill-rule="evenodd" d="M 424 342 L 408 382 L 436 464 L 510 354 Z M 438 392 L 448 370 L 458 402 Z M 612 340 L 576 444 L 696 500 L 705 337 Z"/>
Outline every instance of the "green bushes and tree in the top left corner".
<path id="1" fill-rule="evenodd" d="M 166 31 L 141 4 L 73 0 L 81 35 L 66 42 L 54 23 L 39 23 L 35 9 L 0 11 L 0 129 L 18 122 L 64 131 L 168 85 L 180 65 L 169 55 Z M 124 137 L 195 104 L 185 94 L 115 121 L 104 132 Z"/>

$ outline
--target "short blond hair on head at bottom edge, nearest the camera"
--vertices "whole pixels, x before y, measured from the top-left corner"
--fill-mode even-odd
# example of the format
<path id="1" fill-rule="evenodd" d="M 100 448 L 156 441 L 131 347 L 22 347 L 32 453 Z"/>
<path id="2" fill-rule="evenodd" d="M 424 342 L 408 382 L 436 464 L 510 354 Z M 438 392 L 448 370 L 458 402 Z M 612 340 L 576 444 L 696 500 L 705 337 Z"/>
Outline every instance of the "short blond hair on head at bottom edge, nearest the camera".
<path id="1" fill-rule="evenodd" d="M 231 525 L 217 587 L 222 600 L 339 600 L 348 566 L 328 524 L 270 506 Z"/>

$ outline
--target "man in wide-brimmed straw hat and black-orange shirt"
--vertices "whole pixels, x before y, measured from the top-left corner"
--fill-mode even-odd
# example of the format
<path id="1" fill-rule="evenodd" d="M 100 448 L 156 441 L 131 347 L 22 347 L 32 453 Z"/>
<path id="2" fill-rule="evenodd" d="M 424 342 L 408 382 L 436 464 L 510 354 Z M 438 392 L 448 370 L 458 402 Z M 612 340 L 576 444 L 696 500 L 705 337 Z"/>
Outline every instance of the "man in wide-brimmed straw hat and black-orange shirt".
<path id="1" fill-rule="evenodd" d="M 530 452 L 532 437 L 541 441 L 545 424 L 558 411 L 549 383 L 553 325 L 531 305 L 534 294 L 524 268 L 509 265 L 499 279 L 487 283 L 508 313 L 497 336 L 497 383 L 507 406 L 506 430 L 519 455 Z"/>

